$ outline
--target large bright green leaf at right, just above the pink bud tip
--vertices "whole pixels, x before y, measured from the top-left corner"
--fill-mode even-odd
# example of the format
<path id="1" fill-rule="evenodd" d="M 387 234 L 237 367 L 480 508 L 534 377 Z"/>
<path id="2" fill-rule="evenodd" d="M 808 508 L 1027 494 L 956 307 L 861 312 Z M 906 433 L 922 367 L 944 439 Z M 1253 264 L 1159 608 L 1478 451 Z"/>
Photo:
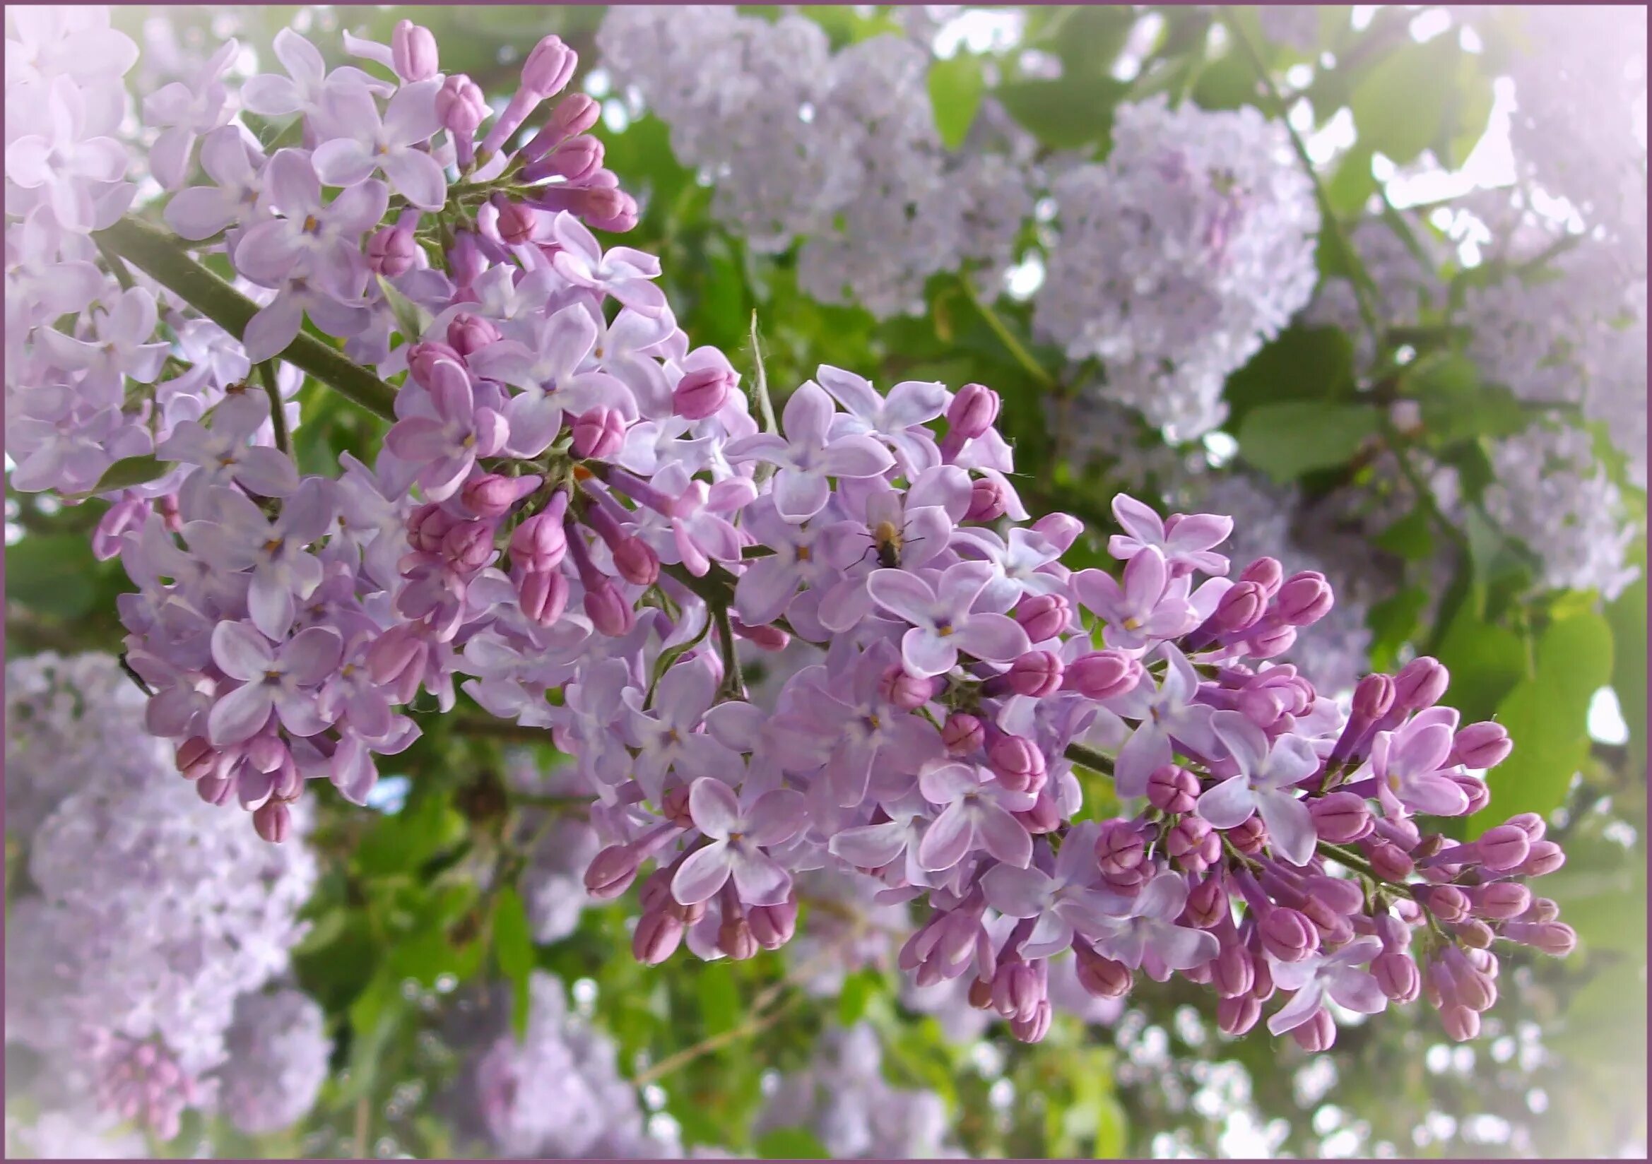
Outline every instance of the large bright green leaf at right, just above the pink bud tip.
<path id="1" fill-rule="evenodd" d="M 1497 708 L 1515 750 L 1487 773 L 1492 802 L 1469 821 L 1477 837 L 1517 812 L 1548 816 L 1589 753 L 1589 700 L 1612 674 L 1612 631 L 1593 611 L 1550 622 L 1536 667 Z"/>

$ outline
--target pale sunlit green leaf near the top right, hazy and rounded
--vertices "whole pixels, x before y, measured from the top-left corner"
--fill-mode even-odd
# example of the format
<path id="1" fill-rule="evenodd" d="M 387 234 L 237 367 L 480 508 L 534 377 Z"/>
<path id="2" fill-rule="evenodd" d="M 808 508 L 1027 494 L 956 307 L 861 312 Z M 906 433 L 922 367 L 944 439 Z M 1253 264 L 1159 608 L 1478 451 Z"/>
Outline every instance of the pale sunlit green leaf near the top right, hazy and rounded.
<path id="1" fill-rule="evenodd" d="M 1462 50 L 1455 38 L 1401 45 L 1353 88 L 1353 122 L 1365 149 L 1406 165 L 1441 134 Z"/>

